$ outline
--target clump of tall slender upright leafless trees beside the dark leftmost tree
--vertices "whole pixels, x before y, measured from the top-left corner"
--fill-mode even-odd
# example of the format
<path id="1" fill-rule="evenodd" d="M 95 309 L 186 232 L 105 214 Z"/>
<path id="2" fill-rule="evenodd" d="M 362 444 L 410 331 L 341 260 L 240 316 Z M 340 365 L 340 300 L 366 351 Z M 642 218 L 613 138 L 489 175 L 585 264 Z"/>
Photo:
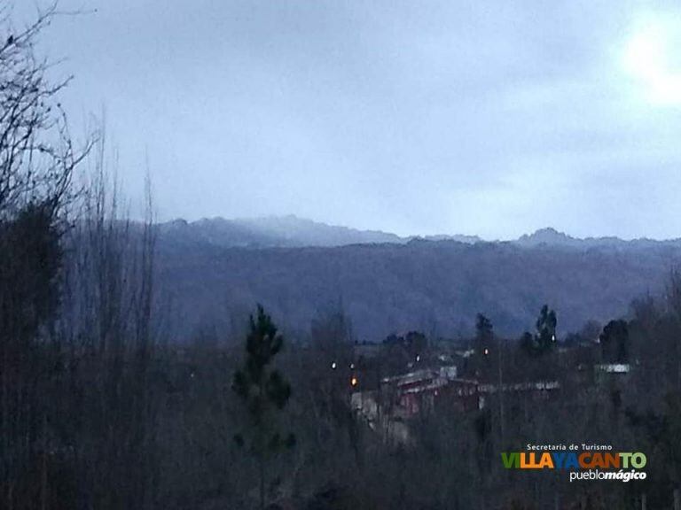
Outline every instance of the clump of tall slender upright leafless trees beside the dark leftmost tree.
<path id="1" fill-rule="evenodd" d="M 145 222 L 126 219 L 106 171 L 103 137 L 97 149 L 68 239 L 60 321 L 77 365 L 73 384 L 84 396 L 81 419 L 72 424 L 76 470 L 88 488 L 83 504 L 146 508 L 153 506 L 157 410 L 151 197 Z"/>

